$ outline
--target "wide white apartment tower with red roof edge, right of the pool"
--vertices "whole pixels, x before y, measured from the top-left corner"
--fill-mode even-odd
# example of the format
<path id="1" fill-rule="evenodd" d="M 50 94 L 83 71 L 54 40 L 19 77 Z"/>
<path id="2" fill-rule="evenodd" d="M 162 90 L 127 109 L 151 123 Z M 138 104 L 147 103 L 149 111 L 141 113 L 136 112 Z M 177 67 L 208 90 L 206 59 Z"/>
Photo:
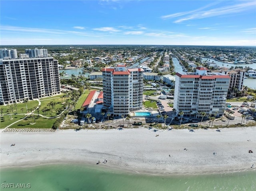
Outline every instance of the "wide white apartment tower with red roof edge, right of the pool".
<path id="1" fill-rule="evenodd" d="M 197 67 L 195 73 L 176 73 L 174 109 L 176 115 L 183 111 L 185 116 L 222 116 L 230 77 L 223 73 L 207 72 Z"/>

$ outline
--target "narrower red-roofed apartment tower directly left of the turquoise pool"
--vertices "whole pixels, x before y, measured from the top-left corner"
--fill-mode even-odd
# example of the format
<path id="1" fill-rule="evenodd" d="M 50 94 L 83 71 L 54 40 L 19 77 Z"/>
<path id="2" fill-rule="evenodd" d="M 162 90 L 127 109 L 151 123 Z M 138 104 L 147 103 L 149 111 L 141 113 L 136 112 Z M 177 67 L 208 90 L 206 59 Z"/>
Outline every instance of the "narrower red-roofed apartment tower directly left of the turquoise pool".
<path id="1" fill-rule="evenodd" d="M 102 69 L 103 106 L 114 116 L 142 109 L 143 69 L 125 65 Z"/>

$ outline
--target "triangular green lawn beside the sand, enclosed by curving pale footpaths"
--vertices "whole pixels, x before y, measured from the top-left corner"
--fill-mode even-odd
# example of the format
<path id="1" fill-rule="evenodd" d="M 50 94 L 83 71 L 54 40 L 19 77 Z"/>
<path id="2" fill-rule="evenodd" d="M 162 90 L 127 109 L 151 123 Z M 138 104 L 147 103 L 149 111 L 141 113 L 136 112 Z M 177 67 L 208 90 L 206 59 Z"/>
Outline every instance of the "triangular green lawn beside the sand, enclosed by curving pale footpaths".
<path id="1" fill-rule="evenodd" d="M 56 120 L 57 120 L 56 118 L 48 119 L 40 116 L 37 118 L 36 116 L 36 123 L 33 125 L 30 125 L 30 122 L 34 123 L 34 119 L 29 118 L 28 120 L 28 118 L 26 118 L 25 120 L 22 120 L 16 124 L 13 124 L 12 126 L 10 126 L 10 128 L 52 128 L 52 125 Z"/>

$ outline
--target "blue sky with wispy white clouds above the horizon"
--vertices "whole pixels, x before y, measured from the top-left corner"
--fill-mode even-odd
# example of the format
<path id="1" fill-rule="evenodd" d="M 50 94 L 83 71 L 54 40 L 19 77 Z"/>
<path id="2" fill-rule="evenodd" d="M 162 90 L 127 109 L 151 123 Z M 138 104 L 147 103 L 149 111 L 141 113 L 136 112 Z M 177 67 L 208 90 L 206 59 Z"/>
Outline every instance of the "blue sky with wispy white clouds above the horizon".
<path id="1" fill-rule="evenodd" d="M 1 0 L 1 45 L 256 45 L 255 0 Z"/>

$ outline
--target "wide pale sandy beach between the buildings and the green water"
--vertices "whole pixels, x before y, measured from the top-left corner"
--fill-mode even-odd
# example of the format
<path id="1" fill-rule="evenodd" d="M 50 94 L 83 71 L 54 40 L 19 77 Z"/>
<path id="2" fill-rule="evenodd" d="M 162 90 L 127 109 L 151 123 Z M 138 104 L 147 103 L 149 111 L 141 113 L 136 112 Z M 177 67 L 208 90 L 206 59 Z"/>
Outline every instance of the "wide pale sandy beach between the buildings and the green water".
<path id="1" fill-rule="evenodd" d="M 1 167 L 62 162 L 96 165 L 100 160 L 98 165 L 105 167 L 153 174 L 256 169 L 256 127 L 221 132 L 148 128 L 1 132 L 0 139 Z"/>

